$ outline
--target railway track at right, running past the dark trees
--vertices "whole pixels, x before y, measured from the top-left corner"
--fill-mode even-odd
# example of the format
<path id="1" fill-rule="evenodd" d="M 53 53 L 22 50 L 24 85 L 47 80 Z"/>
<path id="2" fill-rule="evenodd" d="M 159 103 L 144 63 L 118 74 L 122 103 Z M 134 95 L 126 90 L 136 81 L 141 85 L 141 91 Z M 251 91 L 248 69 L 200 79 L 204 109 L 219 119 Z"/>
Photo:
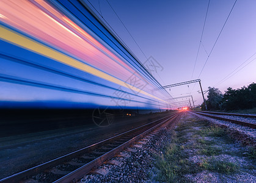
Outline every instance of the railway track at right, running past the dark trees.
<path id="1" fill-rule="evenodd" d="M 203 115 L 205 117 L 210 117 L 210 118 L 214 118 L 214 119 L 217 119 L 217 120 L 229 121 L 231 123 L 240 124 L 242 126 L 247 126 L 247 127 L 251 127 L 253 129 L 256 129 L 256 124 L 255 123 L 249 123 L 249 122 L 245 122 L 245 121 L 242 121 L 242 120 L 233 120 L 233 119 L 230 119 L 230 118 L 223 118 L 223 117 L 216 116 L 216 115 L 229 115 L 229 116 L 243 117 L 243 118 L 256 118 L 255 115 L 242 115 L 242 114 L 220 113 L 220 112 L 195 112 L 195 111 L 191 111 L 191 112 L 197 113 L 199 115 Z"/>

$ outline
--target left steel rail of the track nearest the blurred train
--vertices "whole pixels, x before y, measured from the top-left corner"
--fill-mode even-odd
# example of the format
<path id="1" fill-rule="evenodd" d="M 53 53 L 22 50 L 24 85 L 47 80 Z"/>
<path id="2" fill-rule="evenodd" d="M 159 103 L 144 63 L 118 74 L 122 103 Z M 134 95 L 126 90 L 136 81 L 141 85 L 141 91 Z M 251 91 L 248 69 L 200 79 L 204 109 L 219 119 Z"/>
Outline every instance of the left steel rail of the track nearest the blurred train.
<path id="1" fill-rule="evenodd" d="M 178 113 L 174 113 L 172 115 L 168 115 L 167 117 L 164 117 L 164 118 L 160 118 L 158 120 L 155 120 L 155 121 L 152 121 L 150 123 L 147 123 L 147 124 L 144 124 L 142 126 L 139 126 L 139 127 L 136 127 L 135 129 L 131 129 L 130 131 L 126 131 L 126 132 L 123 132 L 122 134 L 119 134 L 119 135 L 115 135 L 114 137 L 110 137 L 110 138 L 107 138 L 105 140 L 102 140 L 98 143 L 95 143 L 93 145 L 90 145 L 90 146 L 87 146 L 85 148 L 82 148 L 82 149 L 79 149 L 77 151 L 74 151 L 74 152 L 70 152 L 64 156 L 61 156 L 61 157 L 57 157 L 56 159 L 53 159 L 53 160 L 49 160 L 48 162 L 45 162 L 45 163 L 42 163 L 40 165 L 37 165 L 35 167 L 32 167 L 32 168 L 29 168 L 27 170 L 24 170 L 24 171 L 21 171 L 20 173 L 16 173 L 16 174 L 13 174 L 12 176 L 9 176 L 7 178 L 4 178 L 4 179 L 1 179 L 0 182 L 20 182 L 21 180 L 24 180 L 24 179 L 27 179 L 35 174 L 38 174 L 42 171 L 45 171 L 45 170 L 48 170 L 50 168 L 53 168 L 55 167 L 56 165 L 59 165 L 61 163 L 64 163 L 68 160 L 71 160 L 73 159 L 74 157 L 78 157 L 78 156 L 81 156 L 82 154 L 85 154 L 86 152 L 90 152 L 90 151 L 93 151 L 94 149 L 98 148 L 99 146 L 103 146 L 109 142 L 113 142 L 114 140 L 117 140 L 119 138 L 122 138 L 122 137 L 125 137 L 126 135 L 129 135 L 129 134 L 132 134 L 133 132 L 137 132 L 141 129 L 143 129 L 144 127 L 147 127 L 147 126 L 150 126 L 152 125 L 153 123 L 157 123 L 161 120 L 164 120 L 164 121 L 167 121 L 167 120 L 170 120 L 170 118 L 173 118 L 175 116 L 177 116 Z M 162 124 L 163 122 L 161 123 L 158 123 L 158 124 Z M 114 150 L 114 149 L 113 149 Z M 115 152 L 116 153 L 116 152 Z M 111 154 L 112 154 L 112 150 L 111 150 Z M 101 156 L 100 156 L 101 157 Z M 103 157 L 97 157 L 97 161 L 98 162 L 102 162 L 100 161 Z M 103 161 L 104 162 L 104 161 Z M 90 163 L 90 162 L 89 162 Z M 85 163 L 86 164 L 86 163 Z M 88 163 L 87 163 L 88 164 Z M 91 163 L 93 164 L 92 167 L 95 167 L 95 164 L 94 163 Z M 84 166 L 82 166 L 84 167 Z M 82 168 L 80 167 L 80 168 Z M 92 168 L 90 168 L 91 170 Z M 79 170 L 79 168 L 78 168 Z M 84 173 L 85 174 L 85 173 Z"/>

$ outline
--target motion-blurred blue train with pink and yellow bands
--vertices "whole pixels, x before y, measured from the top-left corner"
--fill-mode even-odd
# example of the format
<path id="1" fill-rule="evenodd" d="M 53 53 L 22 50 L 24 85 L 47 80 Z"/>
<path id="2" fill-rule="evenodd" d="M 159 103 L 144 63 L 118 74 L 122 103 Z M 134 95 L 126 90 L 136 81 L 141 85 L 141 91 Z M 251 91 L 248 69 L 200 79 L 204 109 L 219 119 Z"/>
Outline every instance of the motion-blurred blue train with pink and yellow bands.
<path id="1" fill-rule="evenodd" d="M 1 109 L 170 109 L 171 96 L 78 0 L 0 1 Z"/>

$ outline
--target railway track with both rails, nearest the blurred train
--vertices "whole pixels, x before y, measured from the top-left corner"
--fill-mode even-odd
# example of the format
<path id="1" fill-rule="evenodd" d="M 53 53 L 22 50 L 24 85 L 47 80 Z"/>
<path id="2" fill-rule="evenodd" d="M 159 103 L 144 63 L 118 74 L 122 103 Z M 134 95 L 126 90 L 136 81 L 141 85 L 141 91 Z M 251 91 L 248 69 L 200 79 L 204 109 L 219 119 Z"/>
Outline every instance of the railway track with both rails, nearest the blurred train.
<path id="1" fill-rule="evenodd" d="M 94 145 L 13 174 L 1 179 L 0 182 L 74 182 L 157 127 L 174 120 L 177 116 L 178 113 L 175 113 L 136 127 Z"/>

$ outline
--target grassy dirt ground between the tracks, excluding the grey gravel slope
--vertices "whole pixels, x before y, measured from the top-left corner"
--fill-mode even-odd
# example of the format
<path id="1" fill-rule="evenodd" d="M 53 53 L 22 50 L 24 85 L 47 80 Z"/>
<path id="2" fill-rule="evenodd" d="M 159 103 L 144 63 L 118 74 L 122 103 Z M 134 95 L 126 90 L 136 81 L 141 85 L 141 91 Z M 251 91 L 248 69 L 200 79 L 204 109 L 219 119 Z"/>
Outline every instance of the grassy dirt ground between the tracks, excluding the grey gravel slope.
<path id="1" fill-rule="evenodd" d="M 168 133 L 152 182 L 256 182 L 255 147 L 227 130 L 185 113 Z"/>

